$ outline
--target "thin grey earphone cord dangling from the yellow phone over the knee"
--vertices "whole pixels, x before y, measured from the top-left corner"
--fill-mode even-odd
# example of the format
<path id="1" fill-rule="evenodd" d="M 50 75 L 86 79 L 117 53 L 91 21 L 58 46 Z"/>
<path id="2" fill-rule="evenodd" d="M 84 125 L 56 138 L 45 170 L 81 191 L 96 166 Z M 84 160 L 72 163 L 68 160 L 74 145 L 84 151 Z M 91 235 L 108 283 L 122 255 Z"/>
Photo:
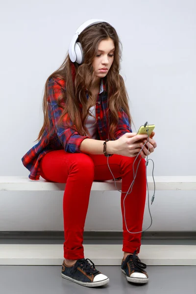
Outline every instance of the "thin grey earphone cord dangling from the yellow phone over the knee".
<path id="1" fill-rule="evenodd" d="M 147 123 L 147 122 L 145 123 L 145 126 L 146 126 L 146 125 L 147 125 L 147 135 L 148 135 L 148 123 Z M 147 142 L 149 143 L 149 135 L 148 135 L 148 137 L 147 137 Z M 146 143 L 147 143 L 147 142 L 146 142 Z M 144 146 L 142 147 L 142 149 L 145 147 L 146 143 L 144 144 Z M 136 159 L 138 158 L 138 156 L 139 156 L 139 154 L 141 153 L 142 149 L 141 149 L 140 152 L 138 153 Z M 149 144 L 148 144 L 148 150 L 147 150 L 147 158 L 148 158 L 148 151 L 149 151 Z M 115 177 L 114 177 L 114 175 L 113 175 L 113 173 L 112 173 L 112 171 L 111 171 L 111 169 L 110 169 L 110 167 L 109 167 L 108 159 L 109 159 L 109 157 L 107 157 L 107 165 L 108 165 L 108 168 L 109 168 L 109 170 L 110 170 L 110 172 L 111 172 L 111 174 L 112 174 L 112 176 L 113 176 L 113 178 L 114 178 L 115 186 L 116 186 L 116 180 L 115 180 Z M 146 230 L 143 230 L 143 231 L 140 231 L 140 232 L 130 232 L 130 231 L 128 230 L 128 228 L 127 228 L 127 225 L 126 225 L 124 200 L 126 199 L 126 196 L 132 192 L 132 187 L 133 187 L 133 184 L 134 184 L 134 182 L 135 182 L 135 178 L 136 178 L 136 175 L 137 175 L 138 167 L 139 167 L 139 164 L 140 164 L 142 158 L 140 159 L 140 161 L 139 161 L 139 163 L 138 163 L 138 166 L 137 166 L 137 169 L 136 169 L 136 174 L 135 174 L 135 176 L 134 176 L 134 163 L 135 163 L 136 159 L 135 159 L 134 162 L 133 162 L 133 181 L 132 181 L 132 183 L 131 183 L 131 185 L 130 185 L 128 191 L 127 191 L 127 192 L 122 192 L 121 190 L 117 189 L 117 186 L 116 186 L 116 189 L 117 189 L 119 192 L 121 192 L 121 193 L 126 193 L 126 195 L 125 195 L 125 197 L 124 197 L 124 199 L 123 199 L 124 222 L 125 222 L 126 230 L 127 230 L 127 232 L 129 232 L 130 234 L 137 234 L 137 233 L 145 232 L 145 231 L 147 231 L 147 230 L 151 227 L 151 225 L 152 225 L 152 216 L 151 216 L 151 213 L 150 213 L 150 207 L 149 207 L 149 190 L 148 190 L 148 185 L 147 185 L 147 195 L 148 195 L 148 211 L 149 211 L 150 218 L 151 218 L 150 226 L 149 226 Z M 149 161 L 149 160 L 151 160 L 152 163 L 153 163 L 152 178 L 153 178 L 153 182 L 154 182 L 154 175 L 153 175 L 153 171 L 154 171 L 154 162 L 153 162 L 152 159 L 147 159 L 146 164 L 145 164 L 145 165 L 146 165 L 146 182 L 147 182 L 147 165 L 148 165 L 148 161 Z M 131 188 L 131 191 L 129 192 L 130 188 Z M 129 192 L 129 193 L 128 193 L 128 192 Z M 154 201 L 154 195 L 155 195 L 155 182 L 154 182 L 154 194 L 153 194 L 152 199 L 151 199 L 151 205 L 152 205 L 152 202 Z"/>

